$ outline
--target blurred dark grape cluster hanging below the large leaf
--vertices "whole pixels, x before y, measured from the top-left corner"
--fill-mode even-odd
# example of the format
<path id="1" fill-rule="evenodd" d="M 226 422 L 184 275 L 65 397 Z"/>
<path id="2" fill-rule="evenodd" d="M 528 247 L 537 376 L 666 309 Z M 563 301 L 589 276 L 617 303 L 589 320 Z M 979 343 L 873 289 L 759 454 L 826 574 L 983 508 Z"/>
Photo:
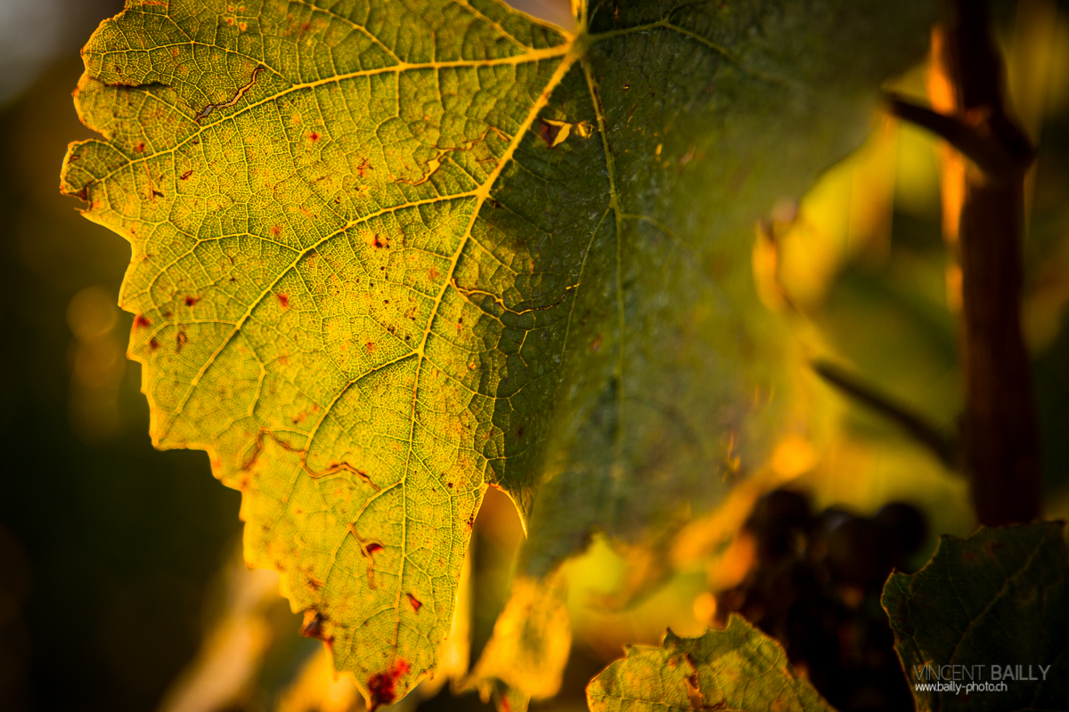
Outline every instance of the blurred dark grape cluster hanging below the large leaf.
<path id="1" fill-rule="evenodd" d="M 838 508 L 815 515 L 806 496 L 770 492 L 743 526 L 755 563 L 739 586 L 717 595 L 718 622 L 739 613 L 778 639 L 841 712 L 912 709 L 880 592 L 926 529 L 908 504 L 871 518 Z"/>

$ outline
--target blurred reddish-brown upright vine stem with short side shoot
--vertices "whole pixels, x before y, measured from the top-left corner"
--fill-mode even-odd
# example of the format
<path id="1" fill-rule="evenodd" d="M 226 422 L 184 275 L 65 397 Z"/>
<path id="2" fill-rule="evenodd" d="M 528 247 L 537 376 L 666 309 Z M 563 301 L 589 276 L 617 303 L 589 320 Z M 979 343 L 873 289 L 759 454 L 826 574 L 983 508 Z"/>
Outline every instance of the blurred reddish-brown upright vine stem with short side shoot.
<path id="1" fill-rule="evenodd" d="M 965 412 L 963 460 L 982 524 L 1027 522 L 1040 511 L 1039 437 L 1021 334 L 1024 180 L 1034 149 L 1009 117 L 1004 68 L 986 2 L 949 0 L 939 43 L 955 88 L 954 114 L 889 96 L 897 116 L 947 141 L 972 163 L 958 223 Z"/>

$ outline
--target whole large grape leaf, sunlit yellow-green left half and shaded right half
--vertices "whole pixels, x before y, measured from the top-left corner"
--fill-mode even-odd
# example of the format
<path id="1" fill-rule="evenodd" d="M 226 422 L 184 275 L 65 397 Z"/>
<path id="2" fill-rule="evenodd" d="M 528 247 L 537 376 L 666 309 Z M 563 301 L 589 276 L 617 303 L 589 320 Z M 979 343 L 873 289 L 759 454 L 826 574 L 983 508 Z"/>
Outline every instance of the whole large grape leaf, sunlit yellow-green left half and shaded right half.
<path id="1" fill-rule="evenodd" d="M 76 104 L 103 138 L 62 189 L 131 244 L 153 441 L 242 490 L 247 560 L 372 706 L 433 671 L 487 486 L 547 567 L 805 427 L 753 225 L 859 142 L 932 4 L 580 3 L 569 33 L 495 0 L 128 0 L 100 26 Z"/>

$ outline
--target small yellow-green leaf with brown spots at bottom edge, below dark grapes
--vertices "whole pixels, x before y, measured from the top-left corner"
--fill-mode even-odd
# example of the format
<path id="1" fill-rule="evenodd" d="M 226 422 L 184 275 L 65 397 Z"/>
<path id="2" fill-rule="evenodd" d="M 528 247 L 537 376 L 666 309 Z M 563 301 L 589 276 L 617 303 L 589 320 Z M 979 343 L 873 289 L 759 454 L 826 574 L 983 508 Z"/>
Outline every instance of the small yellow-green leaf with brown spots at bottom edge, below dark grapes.
<path id="1" fill-rule="evenodd" d="M 740 616 L 701 637 L 668 631 L 660 648 L 629 648 L 590 682 L 587 703 L 591 712 L 833 712 L 812 685 L 794 676 L 779 644 Z"/>

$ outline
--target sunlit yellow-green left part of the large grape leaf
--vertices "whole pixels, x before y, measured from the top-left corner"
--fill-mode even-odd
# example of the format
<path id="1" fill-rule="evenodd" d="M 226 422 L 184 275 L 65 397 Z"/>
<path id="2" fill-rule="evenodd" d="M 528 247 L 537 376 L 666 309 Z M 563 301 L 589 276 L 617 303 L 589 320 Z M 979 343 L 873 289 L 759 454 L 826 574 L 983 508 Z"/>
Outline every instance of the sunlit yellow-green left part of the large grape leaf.
<path id="1" fill-rule="evenodd" d="M 174 1 L 83 52 L 105 140 L 63 189 L 133 246 L 153 440 L 242 490 L 248 563 L 373 706 L 434 667 L 522 362 L 561 348 L 568 285 L 479 216 L 571 46 L 496 3 Z"/>

